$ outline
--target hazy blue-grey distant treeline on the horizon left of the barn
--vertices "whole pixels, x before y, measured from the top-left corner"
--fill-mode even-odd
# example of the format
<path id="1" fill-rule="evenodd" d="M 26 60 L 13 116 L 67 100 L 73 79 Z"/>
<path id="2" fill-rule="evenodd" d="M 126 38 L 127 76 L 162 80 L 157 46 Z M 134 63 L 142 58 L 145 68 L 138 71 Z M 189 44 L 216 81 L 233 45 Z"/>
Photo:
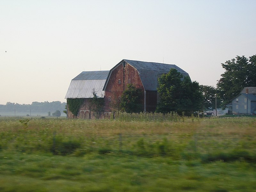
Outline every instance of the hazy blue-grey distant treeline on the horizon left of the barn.
<path id="1" fill-rule="evenodd" d="M 1 116 L 50 116 L 52 113 L 59 110 L 61 116 L 66 116 L 63 113 L 65 110 L 66 102 L 60 101 L 44 101 L 37 102 L 34 101 L 32 104 L 19 104 L 7 102 L 5 105 L 0 105 L 0 115 Z M 50 112 L 50 113 L 49 113 Z"/>

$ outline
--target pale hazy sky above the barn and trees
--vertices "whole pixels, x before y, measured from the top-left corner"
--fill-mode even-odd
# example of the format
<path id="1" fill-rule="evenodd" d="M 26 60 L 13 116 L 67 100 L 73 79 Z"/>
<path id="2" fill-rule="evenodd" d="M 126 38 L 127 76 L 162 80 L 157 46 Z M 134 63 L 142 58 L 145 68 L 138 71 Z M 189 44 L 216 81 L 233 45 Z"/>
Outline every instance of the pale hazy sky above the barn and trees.
<path id="1" fill-rule="evenodd" d="M 122 59 L 175 64 L 216 86 L 221 63 L 256 54 L 255 8 L 255 0 L 0 0 L 0 104 L 64 102 L 79 73 Z"/>

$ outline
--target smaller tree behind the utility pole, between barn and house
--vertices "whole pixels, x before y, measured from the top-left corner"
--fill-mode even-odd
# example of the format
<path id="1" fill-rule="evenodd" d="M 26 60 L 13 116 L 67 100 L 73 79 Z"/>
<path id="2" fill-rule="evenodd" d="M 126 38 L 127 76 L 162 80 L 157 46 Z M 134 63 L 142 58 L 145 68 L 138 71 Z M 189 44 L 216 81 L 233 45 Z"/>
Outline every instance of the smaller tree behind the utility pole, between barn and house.
<path id="1" fill-rule="evenodd" d="M 202 103 L 202 110 L 203 111 L 211 111 L 216 109 L 215 101 L 217 100 L 217 109 L 220 108 L 220 97 L 217 94 L 218 90 L 209 85 L 200 85 L 200 91 L 203 94 L 204 101 Z M 216 98 L 215 98 L 215 94 Z"/>

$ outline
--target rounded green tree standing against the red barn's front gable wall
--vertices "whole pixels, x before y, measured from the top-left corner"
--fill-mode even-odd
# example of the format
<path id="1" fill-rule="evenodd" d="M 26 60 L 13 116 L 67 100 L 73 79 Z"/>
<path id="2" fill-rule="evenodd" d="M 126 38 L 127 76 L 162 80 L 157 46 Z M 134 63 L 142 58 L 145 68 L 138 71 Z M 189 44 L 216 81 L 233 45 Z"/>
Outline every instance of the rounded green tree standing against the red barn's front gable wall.
<path id="1" fill-rule="evenodd" d="M 121 96 L 121 109 L 127 113 L 139 113 L 143 111 L 142 90 L 133 84 L 128 84 Z"/>

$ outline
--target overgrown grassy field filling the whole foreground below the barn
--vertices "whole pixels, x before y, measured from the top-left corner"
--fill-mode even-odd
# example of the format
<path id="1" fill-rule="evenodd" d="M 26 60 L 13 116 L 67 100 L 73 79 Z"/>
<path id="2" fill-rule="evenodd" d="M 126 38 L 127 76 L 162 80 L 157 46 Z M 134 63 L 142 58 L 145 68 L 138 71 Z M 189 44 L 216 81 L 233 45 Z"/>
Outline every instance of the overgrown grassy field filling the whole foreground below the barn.
<path id="1" fill-rule="evenodd" d="M 0 191 L 256 191 L 256 120 L 1 119 Z"/>

